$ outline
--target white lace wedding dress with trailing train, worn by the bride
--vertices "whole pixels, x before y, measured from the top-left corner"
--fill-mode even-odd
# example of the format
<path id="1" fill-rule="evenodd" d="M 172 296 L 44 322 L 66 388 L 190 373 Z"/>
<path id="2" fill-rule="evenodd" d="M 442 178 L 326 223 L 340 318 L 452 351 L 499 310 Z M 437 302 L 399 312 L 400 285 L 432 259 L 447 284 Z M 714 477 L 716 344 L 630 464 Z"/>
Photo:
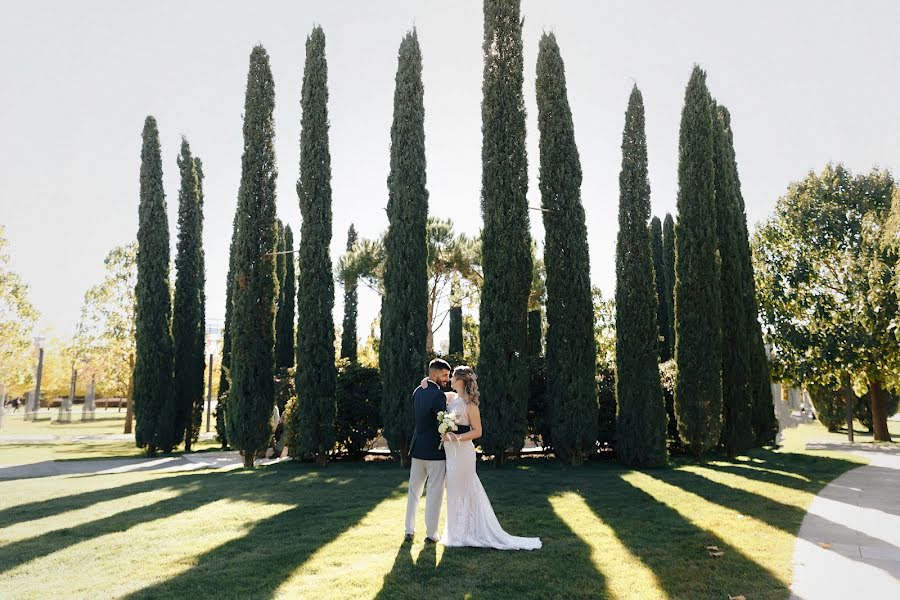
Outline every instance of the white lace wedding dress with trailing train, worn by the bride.
<path id="1" fill-rule="evenodd" d="M 466 401 L 447 395 L 447 410 L 457 414 L 457 422 L 469 425 Z M 500 526 L 491 501 L 475 472 L 475 445 L 471 440 L 446 442 L 447 520 L 441 542 L 445 546 L 475 546 L 498 550 L 536 550 L 540 538 L 509 535 Z"/>

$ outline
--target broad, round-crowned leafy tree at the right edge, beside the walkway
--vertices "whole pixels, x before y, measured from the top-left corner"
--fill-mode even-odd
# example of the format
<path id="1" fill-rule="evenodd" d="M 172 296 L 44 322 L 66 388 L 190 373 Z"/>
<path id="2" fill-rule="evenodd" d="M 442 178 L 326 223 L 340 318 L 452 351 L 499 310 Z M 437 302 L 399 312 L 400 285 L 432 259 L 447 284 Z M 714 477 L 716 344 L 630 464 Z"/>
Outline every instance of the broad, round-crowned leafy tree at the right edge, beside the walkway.
<path id="1" fill-rule="evenodd" d="M 884 232 L 895 184 L 873 170 L 826 166 L 792 184 L 754 239 L 756 286 L 776 376 L 869 395 L 887 441 L 885 391 L 897 389 L 896 256 Z"/>

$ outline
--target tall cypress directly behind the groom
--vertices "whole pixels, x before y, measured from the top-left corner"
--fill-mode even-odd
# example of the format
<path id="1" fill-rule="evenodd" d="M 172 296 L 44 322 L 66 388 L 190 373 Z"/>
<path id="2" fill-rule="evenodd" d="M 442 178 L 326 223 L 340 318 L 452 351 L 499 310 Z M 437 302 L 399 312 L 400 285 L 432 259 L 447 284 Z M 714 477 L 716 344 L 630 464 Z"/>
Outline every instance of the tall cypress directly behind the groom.
<path id="1" fill-rule="evenodd" d="M 384 298 L 379 366 L 384 436 L 407 464 L 412 438 L 410 392 L 425 369 L 428 189 L 422 52 L 413 30 L 400 43 L 391 124 L 388 231 L 384 238 Z"/>

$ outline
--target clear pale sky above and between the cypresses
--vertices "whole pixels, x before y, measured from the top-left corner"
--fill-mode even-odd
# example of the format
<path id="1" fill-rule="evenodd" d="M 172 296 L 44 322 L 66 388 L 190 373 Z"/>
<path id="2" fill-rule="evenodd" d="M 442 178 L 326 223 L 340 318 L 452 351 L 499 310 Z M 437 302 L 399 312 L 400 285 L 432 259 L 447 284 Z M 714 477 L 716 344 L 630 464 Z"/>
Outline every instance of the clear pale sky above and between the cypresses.
<path id="1" fill-rule="evenodd" d="M 0 18 L 0 223 L 42 327 L 74 330 L 103 258 L 137 230 L 144 118 L 157 118 L 175 252 L 180 138 L 206 174 L 207 315 L 224 316 L 250 50 L 263 44 L 276 89 L 278 212 L 299 232 L 304 42 L 326 35 L 337 260 L 347 227 L 387 226 L 386 178 L 397 49 L 418 29 L 424 59 L 430 210 L 481 224 L 481 2 L 8 2 Z M 693 64 L 732 114 L 751 227 L 791 181 L 828 161 L 900 173 L 900 4 L 890 1 L 591 2 L 525 0 L 529 199 L 538 191 L 535 61 L 556 33 L 584 171 L 591 274 L 615 278 L 624 111 L 646 105 L 653 212 L 674 212 L 678 126 Z M 543 237 L 540 213 L 532 231 Z M 341 311 L 340 288 L 336 313 Z M 360 298 L 360 335 L 378 308 Z M 340 321 L 338 317 L 337 321 Z M 438 338 L 438 341 L 440 337 Z"/>

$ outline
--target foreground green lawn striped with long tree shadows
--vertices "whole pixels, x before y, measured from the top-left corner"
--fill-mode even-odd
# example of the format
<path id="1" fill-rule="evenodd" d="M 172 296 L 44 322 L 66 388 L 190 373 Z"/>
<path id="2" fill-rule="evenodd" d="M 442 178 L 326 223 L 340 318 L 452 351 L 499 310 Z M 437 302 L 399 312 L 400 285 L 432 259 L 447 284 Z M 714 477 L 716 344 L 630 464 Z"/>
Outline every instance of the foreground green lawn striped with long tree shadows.
<path id="1" fill-rule="evenodd" d="M 390 461 L 0 481 L 0 597 L 783 599 L 806 507 L 857 464 L 479 465 L 535 552 L 425 546 L 424 506 L 404 544 L 407 473 Z"/>

